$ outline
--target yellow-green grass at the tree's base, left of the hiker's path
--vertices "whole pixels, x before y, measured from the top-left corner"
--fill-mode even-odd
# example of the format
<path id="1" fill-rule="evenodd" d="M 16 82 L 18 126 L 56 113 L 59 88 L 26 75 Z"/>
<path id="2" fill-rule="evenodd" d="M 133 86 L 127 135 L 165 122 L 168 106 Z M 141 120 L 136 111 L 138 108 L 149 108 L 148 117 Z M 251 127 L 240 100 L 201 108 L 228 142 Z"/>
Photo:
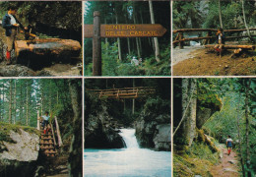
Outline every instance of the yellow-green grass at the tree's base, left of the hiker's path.
<path id="1" fill-rule="evenodd" d="M 219 153 L 213 153 L 204 143 L 193 143 L 184 154 L 173 155 L 173 176 L 211 176 L 211 167 L 219 161 Z"/>

